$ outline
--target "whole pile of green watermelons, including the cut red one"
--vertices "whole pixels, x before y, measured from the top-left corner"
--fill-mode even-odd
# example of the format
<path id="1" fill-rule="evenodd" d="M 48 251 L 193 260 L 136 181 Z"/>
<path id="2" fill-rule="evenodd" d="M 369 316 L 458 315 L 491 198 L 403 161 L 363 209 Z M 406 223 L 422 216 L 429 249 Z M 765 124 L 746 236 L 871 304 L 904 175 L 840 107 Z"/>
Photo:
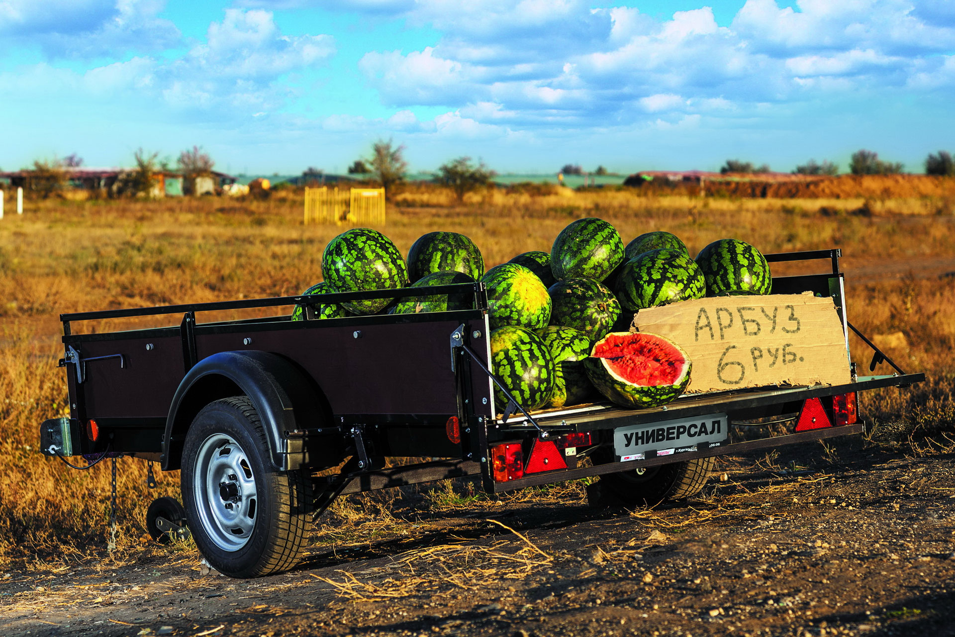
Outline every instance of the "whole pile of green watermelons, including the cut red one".
<path id="1" fill-rule="evenodd" d="M 691 361 L 662 336 L 630 333 L 633 313 L 705 296 L 769 294 L 773 284 L 753 245 L 721 239 L 693 259 L 673 234 L 648 232 L 625 245 L 613 225 L 595 218 L 567 225 L 549 253 L 524 252 L 487 271 L 477 245 L 460 233 L 430 232 L 406 259 L 380 232 L 354 228 L 326 246 L 322 273 L 305 294 L 483 282 L 492 369 L 528 410 L 601 396 L 631 408 L 666 404 L 689 385 Z M 473 294 L 424 289 L 341 304 L 314 296 L 291 320 L 470 308 Z M 495 398 L 502 412 L 508 398 L 501 391 Z"/>

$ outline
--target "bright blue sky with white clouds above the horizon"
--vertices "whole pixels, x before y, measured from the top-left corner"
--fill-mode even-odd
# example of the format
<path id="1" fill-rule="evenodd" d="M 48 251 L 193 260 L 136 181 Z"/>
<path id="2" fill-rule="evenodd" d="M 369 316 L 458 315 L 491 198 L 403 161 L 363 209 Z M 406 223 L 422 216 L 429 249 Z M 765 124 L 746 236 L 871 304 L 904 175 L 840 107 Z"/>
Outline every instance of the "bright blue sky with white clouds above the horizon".
<path id="1" fill-rule="evenodd" d="M 230 172 L 923 170 L 955 151 L 951 0 L 0 0 L 0 168 L 201 145 Z"/>

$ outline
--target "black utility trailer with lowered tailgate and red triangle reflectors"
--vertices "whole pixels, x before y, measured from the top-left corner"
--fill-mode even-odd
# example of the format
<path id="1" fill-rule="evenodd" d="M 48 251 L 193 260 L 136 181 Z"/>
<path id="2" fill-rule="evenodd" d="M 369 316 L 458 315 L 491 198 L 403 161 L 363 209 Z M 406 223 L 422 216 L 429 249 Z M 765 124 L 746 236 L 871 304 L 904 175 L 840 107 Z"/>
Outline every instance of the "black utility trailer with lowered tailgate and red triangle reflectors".
<path id="1" fill-rule="evenodd" d="M 838 249 L 767 255 L 831 261 L 824 274 L 776 277 L 774 292 L 832 296 L 848 348 L 838 258 Z M 296 563 L 312 515 L 343 494 L 466 476 L 499 493 L 602 476 L 630 504 L 684 498 L 703 487 L 715 456 L 861 434 L 859 392 L 924 380 L 862 337 L 875 351 L 870 367 L 886 361 L 895 373 L 684 395 L 656 409 L 527 413 L 513 400 L 495 404 L 483 286 L 428 290 L 473 293 L 475 309 L 314 320 L 308 305 L 422 293 L 405 288 L 63 314 L 70 417 L 41 425 L 41 451 L 180 470 L 184 519 L 203 555 L 227 575 L 253 577 Z M 307 320 L 197 318 L 292 304 Z M 74 333 L 77 322 L 146 315 L 178 325 Z M 734 423 L 760 418 L 789 421 L 791 431 L 730 442 Z M 683 442 L 677 434 L 687 432 L 694 439 Z M 641 444 L 625 450 L 634 439 Z M 390 466 L 395 457 L 438 459 Z M 162 500 L 151 523 L 176 530 L 167 518 L 177 506 Z"/>

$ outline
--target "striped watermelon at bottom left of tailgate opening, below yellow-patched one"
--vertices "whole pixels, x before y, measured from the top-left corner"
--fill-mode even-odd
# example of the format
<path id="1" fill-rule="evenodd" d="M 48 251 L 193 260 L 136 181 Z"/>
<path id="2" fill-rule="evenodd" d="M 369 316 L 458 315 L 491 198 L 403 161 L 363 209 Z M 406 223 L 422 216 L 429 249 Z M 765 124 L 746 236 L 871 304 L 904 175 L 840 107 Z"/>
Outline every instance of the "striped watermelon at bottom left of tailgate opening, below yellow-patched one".
<path id="1" fill-rule="evenodd" d="M 491 371 L 528 411 L 546 405 L 554 393 L 554 358 L 530 329 L 508 325 L 491 332 Z M 508 401 L 497 385 L 494 399 L 503 413 Z"/>

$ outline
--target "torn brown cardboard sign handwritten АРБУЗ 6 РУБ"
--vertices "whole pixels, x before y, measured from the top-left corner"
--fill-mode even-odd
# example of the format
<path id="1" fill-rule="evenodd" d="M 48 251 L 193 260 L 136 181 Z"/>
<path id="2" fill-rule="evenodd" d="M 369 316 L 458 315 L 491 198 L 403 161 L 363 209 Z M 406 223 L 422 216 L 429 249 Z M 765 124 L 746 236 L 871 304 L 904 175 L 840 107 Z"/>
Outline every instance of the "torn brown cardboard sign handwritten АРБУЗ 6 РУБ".
<path id="1" fill-rule="evenodd" d="M 690 355 L 688 393 L 851 379 L 833 300 L 803 294 L 721 296 L 641 309 L 633 328 Z"/>

